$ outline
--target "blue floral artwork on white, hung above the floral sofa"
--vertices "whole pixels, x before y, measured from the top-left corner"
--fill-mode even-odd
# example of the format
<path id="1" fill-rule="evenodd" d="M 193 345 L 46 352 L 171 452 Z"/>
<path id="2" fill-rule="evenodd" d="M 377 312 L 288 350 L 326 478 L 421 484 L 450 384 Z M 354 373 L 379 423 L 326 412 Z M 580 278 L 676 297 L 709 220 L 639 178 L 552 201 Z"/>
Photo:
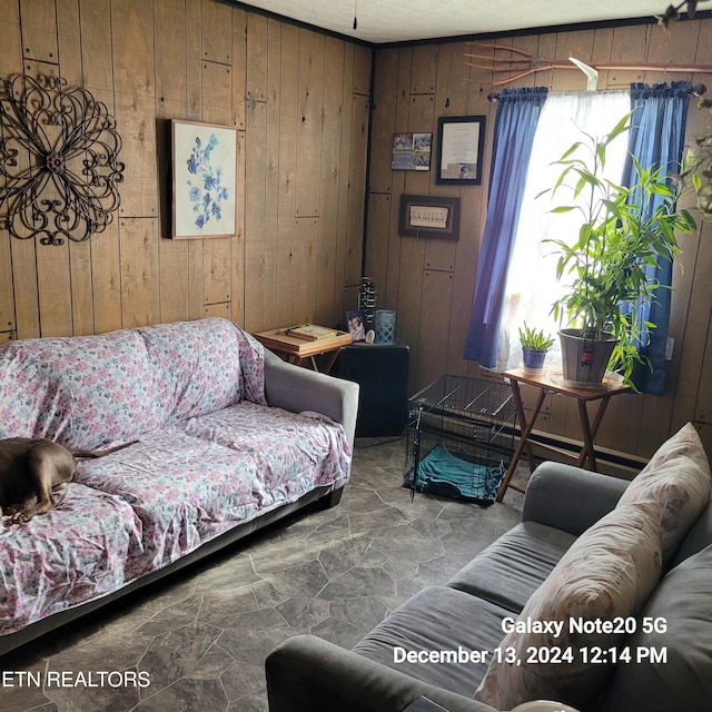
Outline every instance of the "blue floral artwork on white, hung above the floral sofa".
<path id="1" fill-rule="evenodd" d="M 174 239 L 235 235 L 237 131 L 172 120 Z"/>

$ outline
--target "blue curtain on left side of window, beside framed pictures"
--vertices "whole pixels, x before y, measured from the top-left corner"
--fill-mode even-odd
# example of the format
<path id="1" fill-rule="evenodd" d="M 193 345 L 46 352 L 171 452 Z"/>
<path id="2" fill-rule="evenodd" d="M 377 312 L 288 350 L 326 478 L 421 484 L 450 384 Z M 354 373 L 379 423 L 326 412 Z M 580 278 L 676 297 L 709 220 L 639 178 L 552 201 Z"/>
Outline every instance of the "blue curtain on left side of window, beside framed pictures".
<path id="1" fill-rule="evenodd" d="M 465 358 L 486 368 L 496 364 L 507 267 L 546 93 L 545 87 L 505 89 L 497 103 L 487 218 L 464 353 Z"/>

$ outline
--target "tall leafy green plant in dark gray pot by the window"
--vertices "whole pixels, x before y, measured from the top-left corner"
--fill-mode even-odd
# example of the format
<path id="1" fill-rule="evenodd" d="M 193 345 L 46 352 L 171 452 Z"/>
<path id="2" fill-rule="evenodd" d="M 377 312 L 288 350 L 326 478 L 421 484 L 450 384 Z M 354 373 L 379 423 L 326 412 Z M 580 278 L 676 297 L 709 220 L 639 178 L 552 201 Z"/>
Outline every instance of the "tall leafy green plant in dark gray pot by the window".
<path id="1" fill-rule="evenodd" d="M 643 167 L 633 158 L 635 180 L 630 188 L 602 176 L 606 149 L 627 130 L 630 118 L 626 115 L 602 139 L 584 134 L 585 140 L 555 162 L 563 170 L 543 191 L 564 191 L 573 198 L 553 212 L 581 214 L 577 238 L 546 240 L 556 246 L 556 279 L 571 278 L 566 294 L 552 308 L 566 325 L 560 335 L 568 380 L 600 383 L 612 368 L 634 387 L 633 368 L 646 363 L 639 348 L 655 328 L 641 317 L 640 307 L 664 288 L 651 281 L 646 270 L 660 259 L 674 259 L 680 251 L 676 231 L 696 229 L 690 211 L 678 208 L 678 187 L 662 169 Z"/>

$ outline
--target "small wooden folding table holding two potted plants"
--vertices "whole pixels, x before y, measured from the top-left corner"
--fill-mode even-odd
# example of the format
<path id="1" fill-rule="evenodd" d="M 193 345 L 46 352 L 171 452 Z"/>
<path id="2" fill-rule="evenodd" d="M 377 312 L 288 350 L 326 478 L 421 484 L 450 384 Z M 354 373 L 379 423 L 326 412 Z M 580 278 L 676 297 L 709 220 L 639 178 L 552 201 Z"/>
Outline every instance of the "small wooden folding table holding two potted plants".
<path id="1" fill-rule="evenodd" d="M 544 373 L 541 376 L 530 376 L 525 374 L 522 368 L 505 370 L 503 375 L 505 378 L 510 379 L 510 384 L 512 385 L 512 395 L 514 396 L 514 405 L 516 407 L 522 433 L 520 435 L 520 443 L 514 451 L 514 455 L 512 456 L 510 467 L 507 468 L 507 472 L 502 479 L 502 484 L 500 485 L 500 490 L 497 491 L 497 502 L 502 502 L 507 487 L 512 487 L 517 492 L 523 492 L 521 487 L 510 484 L 510 481 L 512 479 L 517 463 L 520 462 L 520 457 L 525 449 L 530 464 L 530 472 L 534 472 L 534 467 L 536 465 L 534 462 L 534 451 L 532 448 L 532 442 L 535 441 L 531 439 L 531 435 L 532 431 L 534 429 L 536 419 L 538 418 L 538 415 L 542 411 L 542 406 L 544 405 L 544 398 L 550 393 L 555 393 L 576 399 L 576 404 L 578 405 L 581 433 L 583 435 L 583 447 L 578 453 L 576 466 L 583 467 L 585 462 L 589 461 L 591 469 L 593 469 L 593 472 L 597 472 L 594 442 L 596 438 L 596 434 L 599 433 L 599 427 L 601 426 L 601 422 L 603 421 L 603 416 L 605 415 L 605 411 L 609 407 L 609 402 L 611 400 L 611 398 L 621 393 L 630 392 L 630 387 L 624 385 L 622 380 L 617 378 L 604 378 L 601 385 L 592 384 L 591 386 L 582 386 L 564 380 L 561 374 Z M 522 402 L 522 393 L 520 390 L 521 383 L 534 386 L 535 388 L 538 388 L 540 392 L 538 397 L 536 398 L 536 404 L 534 405 L 534 411 L 532 412 L 532 416 L 528 422 L 526 419 L 524 404 Z M 591 423 L 589 419 L 589 403 L 591 403 L 592 400 L 599 402 L 599 408 L 593 418 L 593 423 Z M 538 445 L 546 447 L 546 445 L 543 445 L 542 443 L 538 443 Z"/>

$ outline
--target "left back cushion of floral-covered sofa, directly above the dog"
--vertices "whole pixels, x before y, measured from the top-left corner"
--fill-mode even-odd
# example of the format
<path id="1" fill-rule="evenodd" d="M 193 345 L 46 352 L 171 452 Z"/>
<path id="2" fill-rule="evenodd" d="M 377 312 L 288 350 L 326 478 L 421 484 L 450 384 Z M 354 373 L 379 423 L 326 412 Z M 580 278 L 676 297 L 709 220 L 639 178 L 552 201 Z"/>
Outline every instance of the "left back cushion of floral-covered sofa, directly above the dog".
<path id="1" fill-rule="evenodd" d="M 155 372 L 136 332 L 24 339 L 8 344 L 3 355 L 20 360 L 14 373 L 23 375 L 22 412 L 36 419 L 34 436 L 97 448 L 161 424 Z M 12 403 L 3 413 L 8 408 Z"/>

